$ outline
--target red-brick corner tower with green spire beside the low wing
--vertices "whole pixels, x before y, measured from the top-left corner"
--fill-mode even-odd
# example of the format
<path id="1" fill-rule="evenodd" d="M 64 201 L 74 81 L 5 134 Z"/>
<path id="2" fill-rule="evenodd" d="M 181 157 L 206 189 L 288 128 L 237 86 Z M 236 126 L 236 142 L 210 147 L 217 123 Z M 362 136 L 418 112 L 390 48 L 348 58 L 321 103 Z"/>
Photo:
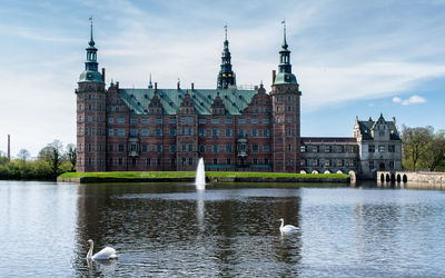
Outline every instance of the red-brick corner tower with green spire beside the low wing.
<path id="1" fill-rule="evenodd" d="M 284 39 L 279 51 L 278 73 L 273 71 L 273 160 L 275 172 L 299 172 L 300 103 L 299 85 L 291 72 L 290 51 Z"/>

